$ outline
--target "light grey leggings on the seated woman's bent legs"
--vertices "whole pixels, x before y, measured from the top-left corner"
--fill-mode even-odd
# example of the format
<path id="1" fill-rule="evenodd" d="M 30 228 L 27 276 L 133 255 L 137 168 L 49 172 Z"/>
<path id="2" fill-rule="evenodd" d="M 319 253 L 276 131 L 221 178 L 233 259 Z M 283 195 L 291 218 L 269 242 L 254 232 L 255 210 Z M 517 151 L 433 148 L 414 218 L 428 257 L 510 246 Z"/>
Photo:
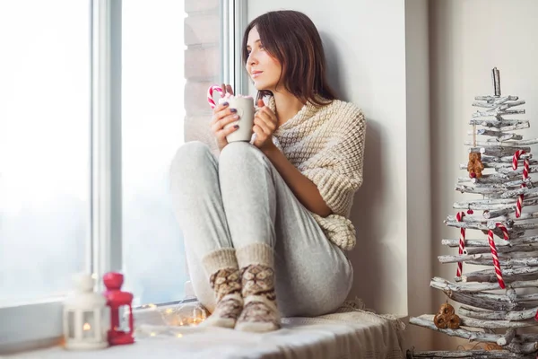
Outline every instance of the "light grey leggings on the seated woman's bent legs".
<path id="1" fill-rule="evenodd" d="M 346 299 L 351 263 L 253 144 L 230 143 L 218 161 L 206 144 L 183 144 L 172 161 L 170 182 L 191 281 L 209 311 L 215 300 L 202 258 L 256 242 L 274 249 L 282 316 L 322 315 Z"/>

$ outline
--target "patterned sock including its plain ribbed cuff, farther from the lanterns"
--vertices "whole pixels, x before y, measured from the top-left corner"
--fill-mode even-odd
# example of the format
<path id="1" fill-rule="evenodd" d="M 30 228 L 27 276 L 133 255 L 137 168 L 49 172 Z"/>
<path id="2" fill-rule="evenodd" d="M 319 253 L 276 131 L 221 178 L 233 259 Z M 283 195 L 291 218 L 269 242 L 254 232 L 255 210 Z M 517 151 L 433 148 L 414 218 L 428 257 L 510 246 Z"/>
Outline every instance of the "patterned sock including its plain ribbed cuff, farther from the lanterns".
<path id="1" fill-rule="evenodd" d="M 265 332 L 281 327 L 274 292 L 273 249 L 256 243 L 238 250 L 244 307 L 236 329 Z"/>

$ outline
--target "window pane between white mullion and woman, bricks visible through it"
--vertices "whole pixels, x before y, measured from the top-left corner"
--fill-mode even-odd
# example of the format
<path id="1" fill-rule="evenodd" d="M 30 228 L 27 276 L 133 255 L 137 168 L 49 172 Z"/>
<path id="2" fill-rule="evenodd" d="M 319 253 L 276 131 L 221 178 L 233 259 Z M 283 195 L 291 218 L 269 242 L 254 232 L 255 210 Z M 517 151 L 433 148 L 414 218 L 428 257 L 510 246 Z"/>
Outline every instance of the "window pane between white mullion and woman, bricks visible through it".
<path id="1" fill-rule="evenodd" d="M 188 275 L 169 164 L 185 138 L 204 139 L 209 130 L 206 92 L 219 81 L 220 1 L 129 0 L 122 6 L 126 290 L 135 305 L 178 301 Z"/>

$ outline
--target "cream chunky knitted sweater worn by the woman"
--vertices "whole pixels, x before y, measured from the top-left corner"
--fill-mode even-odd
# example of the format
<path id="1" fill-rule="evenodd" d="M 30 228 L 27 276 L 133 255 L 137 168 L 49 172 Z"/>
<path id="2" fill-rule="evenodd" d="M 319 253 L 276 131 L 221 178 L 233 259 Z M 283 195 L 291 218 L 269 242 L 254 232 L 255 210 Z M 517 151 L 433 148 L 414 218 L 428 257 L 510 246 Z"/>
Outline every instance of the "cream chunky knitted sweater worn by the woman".
<path id="1" fill-rule="evenodd" d="M 265 103 L 275 111 L 274 98 Z M 355 246 L 355 228 L 349 220 L 353 196 L 362 184 L 366 120 L 349 102 L 335 100 L 316 107 L 308 102 L 273 133 L 275 144 L 308 180 L 333 211 L 322 217 L 311 213 L 329 241 L 343 250 Z"/>

